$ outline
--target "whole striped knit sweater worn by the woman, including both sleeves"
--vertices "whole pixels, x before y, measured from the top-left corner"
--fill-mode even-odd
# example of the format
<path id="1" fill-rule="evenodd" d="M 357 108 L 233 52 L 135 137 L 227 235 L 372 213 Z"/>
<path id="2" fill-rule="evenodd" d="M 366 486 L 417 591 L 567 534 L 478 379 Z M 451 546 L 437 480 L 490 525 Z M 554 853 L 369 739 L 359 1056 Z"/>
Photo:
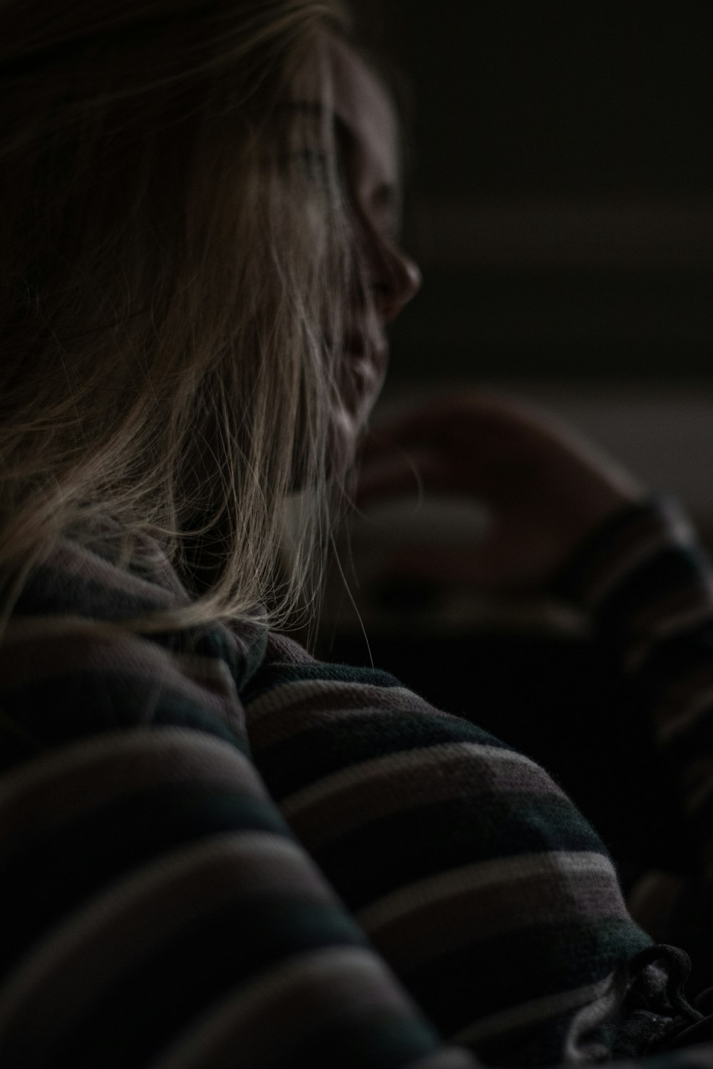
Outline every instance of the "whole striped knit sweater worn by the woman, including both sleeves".
<path id="1" fill-rule="evenodd" d="M 704 902 L 708 566 L 649 503 L 559 585 L 649 703 Z M 257 622 L 93 625 L 186 597 L 151 547 L 127 571 L 67 541 L 0 647 L 1 1066 L 474 1069 L 670 1045 L 685 956 L 632 919 L 547 773 L 476 726 L 477 679 L 466 721 Z M 660 941 L 670 880 L 636 892 Z M 710 1066 L 713 1043 L 646 1065 Z"/>

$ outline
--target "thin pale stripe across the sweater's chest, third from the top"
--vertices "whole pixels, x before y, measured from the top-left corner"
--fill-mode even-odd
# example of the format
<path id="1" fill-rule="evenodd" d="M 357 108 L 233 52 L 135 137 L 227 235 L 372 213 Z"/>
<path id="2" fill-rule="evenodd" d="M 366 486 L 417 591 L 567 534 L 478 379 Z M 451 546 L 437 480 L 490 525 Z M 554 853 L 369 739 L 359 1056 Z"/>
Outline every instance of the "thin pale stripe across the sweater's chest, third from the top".
<path id="1" fill-rule="evenodd" d="M 498 887 L 501 884 L 512 885 L 516 881 L 530 880 L 547 873 L 584 876 L 593 872 L 605 872 L 611 877 L 616 885 L 616 870 L 604 854 L 549 850 L 542 853 L 517 854 L 514 857 L 496 857 L 493 861 L 474 862 L 471 865 L 463 865 L 447 872 L 438 872 L 406 887 L 399 887 L 398 890 L 359 910 L 355 915 L 365 931 L 373 936 L 374 932 L 394 920 L 452 898 L 453 895 L 482 890 L 485 887 Z M 527 923 L 527 917 L 524 917 L 523 923 Z"/>

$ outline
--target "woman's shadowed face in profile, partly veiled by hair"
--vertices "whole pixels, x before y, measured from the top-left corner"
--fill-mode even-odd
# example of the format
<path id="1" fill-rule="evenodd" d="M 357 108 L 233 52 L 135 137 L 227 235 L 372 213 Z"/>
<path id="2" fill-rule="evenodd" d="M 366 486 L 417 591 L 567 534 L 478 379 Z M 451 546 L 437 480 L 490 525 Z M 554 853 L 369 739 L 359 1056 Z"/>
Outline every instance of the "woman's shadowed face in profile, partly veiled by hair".
<path id="1" fill-rule="evenodd" d="M 355 263 L 366 267 L 344 310 L 344 330 L 336 369 L 339 398 L 334 421 L 348 444 L 356 437 L 378 396 L 388 356 L 385 326 L 420 286 L 416 264 L 401 250 L 398 230 L 401 188 L 397 122 L 391 102 L 367 64 L 337 37 L 327 40 L 334 123 L 354 222 Z"/>

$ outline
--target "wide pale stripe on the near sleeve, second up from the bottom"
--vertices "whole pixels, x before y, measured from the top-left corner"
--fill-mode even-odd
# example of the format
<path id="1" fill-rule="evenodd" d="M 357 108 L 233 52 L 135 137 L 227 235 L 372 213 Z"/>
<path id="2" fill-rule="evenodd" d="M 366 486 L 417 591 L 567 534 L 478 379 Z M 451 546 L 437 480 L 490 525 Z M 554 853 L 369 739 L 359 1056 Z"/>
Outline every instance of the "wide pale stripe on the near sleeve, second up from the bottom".
<path id="1" fill-rule="evenodd" d="M 234 868 L 226 867 L 232 863 Z M 200 881 L 204 873 L 221 866 L 219 880 L 203 881 L 199 910 L 196 896 L 185 894 L 186 882 L 191 878 Z M 283 886 L 285 874 L 295 880 L 300 896 L 307 892 L 314 901 L 335 901 L 301 848 L 268 832 L 217 835 L 199 846 L 161 855 L 89 903 L 82 902 L 25 959 L 0 995 L 0 1034 L 16 1013 L 27 1012 L 28 1000 L 40 997 L 44 1038 L 49 1042 L 52 1024 L 61 1032 L 64 1023 L 82 1010 L 76 985 L 65 982 L 67 976 L 77 978 L 77 960 L 81 961 L 81 994 L 90 1000 L 100 987 L 136 964 L 151 945 L 180 932 L 199 912 L 243 890 L 254 893 L 261 889 L 259 884 L 262 890 Z M 48 996 L 51 1014 L 47 1012 Z"/>

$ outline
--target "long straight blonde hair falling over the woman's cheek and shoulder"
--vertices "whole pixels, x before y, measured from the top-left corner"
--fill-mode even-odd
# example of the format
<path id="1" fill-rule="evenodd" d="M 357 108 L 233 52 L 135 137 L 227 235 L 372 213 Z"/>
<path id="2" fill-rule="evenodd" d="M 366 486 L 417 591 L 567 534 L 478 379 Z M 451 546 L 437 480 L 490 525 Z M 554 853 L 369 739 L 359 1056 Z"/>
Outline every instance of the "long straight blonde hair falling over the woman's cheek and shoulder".
<path id="1" fill-rule="evenodd" d="M 330 124 L 285 105 L 345 27 L 339 0 L 0 0 L 3 621 L 65 537 L 124 566 L 158 541 L 193 597 L 139 630 L 294 606 L 354 279 Z"/>

